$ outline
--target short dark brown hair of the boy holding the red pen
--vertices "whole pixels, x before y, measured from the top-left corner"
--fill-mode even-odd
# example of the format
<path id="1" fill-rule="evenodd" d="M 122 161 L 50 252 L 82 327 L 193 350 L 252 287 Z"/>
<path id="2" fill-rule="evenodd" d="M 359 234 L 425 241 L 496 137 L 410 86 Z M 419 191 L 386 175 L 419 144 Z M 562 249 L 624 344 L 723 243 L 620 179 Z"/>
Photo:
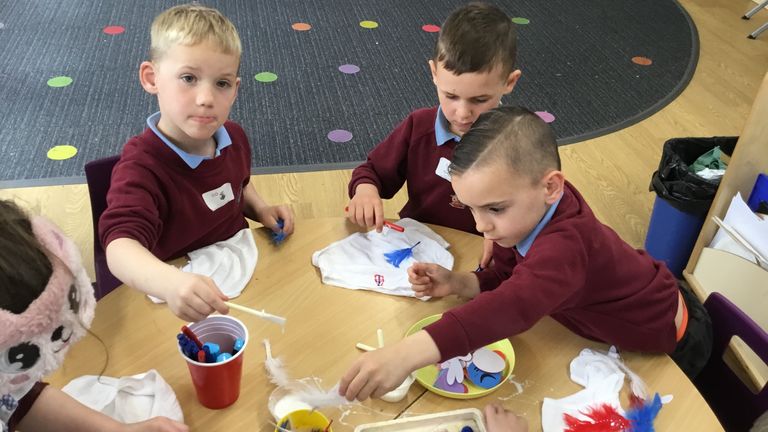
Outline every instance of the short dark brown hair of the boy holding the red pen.
<path id="1" fill-rule="evenodd" d="M 443 24 L 433 60 L 456 75 L 501 66 L 506 79 L 515 70 L 516 57 L 515 25 L 507 14 L 493 5 L 470 3 Z"/>

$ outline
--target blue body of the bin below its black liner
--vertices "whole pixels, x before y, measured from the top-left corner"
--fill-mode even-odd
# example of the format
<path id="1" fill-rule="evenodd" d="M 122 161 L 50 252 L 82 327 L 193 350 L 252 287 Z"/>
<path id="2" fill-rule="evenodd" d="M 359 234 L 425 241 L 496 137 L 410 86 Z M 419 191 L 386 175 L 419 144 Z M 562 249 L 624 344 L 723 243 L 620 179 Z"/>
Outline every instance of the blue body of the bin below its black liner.
<path id="1" fill-rule="evenodd" d="M 678 210 L 657 196 L 645 237 L 645 250 L 664 261 L 672 274 L 681 278 L 703 225 L 704 216 Z"/>

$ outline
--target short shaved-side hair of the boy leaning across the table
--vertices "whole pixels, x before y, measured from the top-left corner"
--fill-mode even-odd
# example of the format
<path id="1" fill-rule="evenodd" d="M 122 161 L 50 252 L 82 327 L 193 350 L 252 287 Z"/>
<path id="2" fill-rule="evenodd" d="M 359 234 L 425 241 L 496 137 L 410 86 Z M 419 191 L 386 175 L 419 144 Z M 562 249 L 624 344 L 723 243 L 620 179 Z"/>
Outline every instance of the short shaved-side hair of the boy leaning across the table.
<path id="1" fill-rule="evenodd" d="M 499 160 L 532 183 L 552 170 L 560 170 L 552 129 L 521 107 L 499 107 L 481 114 L 456 146 L 449 171 L 461 175 L 472 167 Z"/>

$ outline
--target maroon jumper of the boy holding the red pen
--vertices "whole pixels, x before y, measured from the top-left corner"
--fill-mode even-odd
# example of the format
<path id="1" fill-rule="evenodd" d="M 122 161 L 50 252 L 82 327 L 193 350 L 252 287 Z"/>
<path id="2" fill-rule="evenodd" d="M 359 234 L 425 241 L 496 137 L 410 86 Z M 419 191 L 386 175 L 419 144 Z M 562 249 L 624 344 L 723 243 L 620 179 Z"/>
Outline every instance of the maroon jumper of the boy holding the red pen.
<path id="1" fill-rule="evenodd" d="M 435 141 L 437 107 L 412 112 L 370 153 L 368 160 L 352 172 L 349 197 L 355 188 L 369 183 L 382 199 L 392 198 L 408 181 L 408 202 L 401 218 L 447 226 L 478 234 L 468 208 L 456 200 L 451 182 L 435 173 L 441 157 L 451 160 L 456 141 L 438 146 Z"/>

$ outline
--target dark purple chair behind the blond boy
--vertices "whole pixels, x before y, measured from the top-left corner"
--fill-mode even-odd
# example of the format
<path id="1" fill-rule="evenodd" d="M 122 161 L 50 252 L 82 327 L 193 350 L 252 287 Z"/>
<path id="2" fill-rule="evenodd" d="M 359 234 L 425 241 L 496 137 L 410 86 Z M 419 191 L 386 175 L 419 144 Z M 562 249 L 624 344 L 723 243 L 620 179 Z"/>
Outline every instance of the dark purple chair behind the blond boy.
<path id="1" fill-rule="evenodd" d="M 120 156 L 109 156 L 85 164 L 85 180 L 88 182 L 88 195 L 91 197 L 91 215 L 93 216 L 93 264 L 96 269 L 94 293 L 100 299 L 119 287 L 118 280 L 107 267 L 107 255 L 99 240 L 99 218 L 107 209 L 107 191 L 112 181 L 112 168 Z"/>

